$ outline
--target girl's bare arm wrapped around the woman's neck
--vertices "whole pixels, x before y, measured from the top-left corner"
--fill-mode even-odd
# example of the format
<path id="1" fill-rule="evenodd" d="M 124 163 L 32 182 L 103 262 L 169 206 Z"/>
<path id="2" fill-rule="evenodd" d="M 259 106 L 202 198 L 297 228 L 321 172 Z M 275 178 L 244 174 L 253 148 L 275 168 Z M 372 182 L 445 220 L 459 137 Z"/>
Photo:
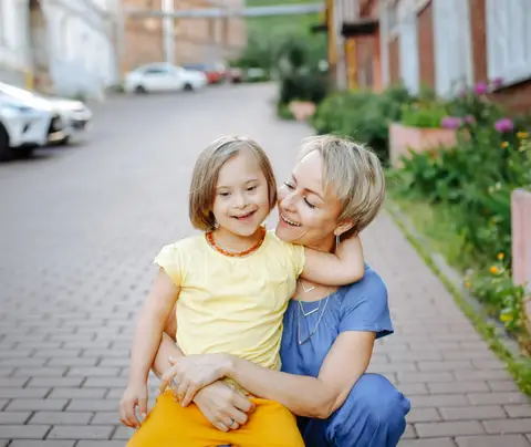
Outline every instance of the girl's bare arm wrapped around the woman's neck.
<path id="1" fill-rule="evenodd" d="M 335 253 L 304 248 L 301 277 L 323 285 L 345 285 L 360 281 L 365 273 L 362 242 L 352 236 L 340 243 Z"/>

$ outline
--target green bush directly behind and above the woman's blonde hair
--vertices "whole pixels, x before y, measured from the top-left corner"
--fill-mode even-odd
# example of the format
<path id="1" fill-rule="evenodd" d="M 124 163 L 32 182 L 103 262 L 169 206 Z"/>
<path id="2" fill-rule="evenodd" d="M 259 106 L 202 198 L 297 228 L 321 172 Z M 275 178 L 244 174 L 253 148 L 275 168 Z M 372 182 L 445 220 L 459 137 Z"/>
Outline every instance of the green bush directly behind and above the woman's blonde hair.
<path id="1" fill-rule="evenodd" d="M 389 87 L 381 94 L 336 92 L 319 105 L 313 126 L 319 134 L 350 136 L 366 143 L 387 164 L 389 123 L 399 121 L 403 105 L 413 101 L 404 86 Z"/>

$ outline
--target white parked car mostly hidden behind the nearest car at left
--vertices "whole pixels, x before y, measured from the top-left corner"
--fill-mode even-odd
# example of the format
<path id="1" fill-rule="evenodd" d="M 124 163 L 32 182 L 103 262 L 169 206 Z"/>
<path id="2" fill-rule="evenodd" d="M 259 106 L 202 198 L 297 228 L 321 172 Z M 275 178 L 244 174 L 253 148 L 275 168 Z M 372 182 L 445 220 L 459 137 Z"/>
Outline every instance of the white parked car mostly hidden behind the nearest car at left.
<path id="1" fill-rule="evenodd" d="M 55 132 L 60 131 L 61 135 L 52 135 L 49 143 L 66 144 L 72 138 L 81 137 L 92 119 L 92 112 L 81 101 L 44 96 L 2 82 L 0 82 L 0 96 L 8 97 L 14 103 L 22 103 L 28 107 L 50 111 L 55 118 Z"/>

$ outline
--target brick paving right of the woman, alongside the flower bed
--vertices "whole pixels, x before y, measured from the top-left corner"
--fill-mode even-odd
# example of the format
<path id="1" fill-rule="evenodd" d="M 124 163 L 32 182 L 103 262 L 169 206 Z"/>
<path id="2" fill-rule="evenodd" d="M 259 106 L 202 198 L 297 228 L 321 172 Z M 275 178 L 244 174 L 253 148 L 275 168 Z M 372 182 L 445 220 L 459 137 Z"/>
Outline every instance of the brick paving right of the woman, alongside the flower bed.
<path id="1" fill-rule="evenodd" d="M 371 371 L 412 401 L 400 447 L 530 447 L 529 399 L 392 218 L 382 215 L 363 240 L 395 326 Z"/>

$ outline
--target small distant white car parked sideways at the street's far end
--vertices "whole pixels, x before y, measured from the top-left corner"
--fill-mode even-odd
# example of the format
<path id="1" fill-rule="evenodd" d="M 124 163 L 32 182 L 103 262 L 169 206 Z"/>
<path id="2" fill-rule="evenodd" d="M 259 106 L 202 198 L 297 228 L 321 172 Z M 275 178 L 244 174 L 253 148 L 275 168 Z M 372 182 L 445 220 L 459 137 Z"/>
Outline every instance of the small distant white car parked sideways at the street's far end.
<path id="1" fill-rule="evenodd" d="M 205 73 L 185 70 L 168 63 L 139 66 L 125 75 L 127 93 L 192 91 L 202 89 L 208 80 Z"/>

